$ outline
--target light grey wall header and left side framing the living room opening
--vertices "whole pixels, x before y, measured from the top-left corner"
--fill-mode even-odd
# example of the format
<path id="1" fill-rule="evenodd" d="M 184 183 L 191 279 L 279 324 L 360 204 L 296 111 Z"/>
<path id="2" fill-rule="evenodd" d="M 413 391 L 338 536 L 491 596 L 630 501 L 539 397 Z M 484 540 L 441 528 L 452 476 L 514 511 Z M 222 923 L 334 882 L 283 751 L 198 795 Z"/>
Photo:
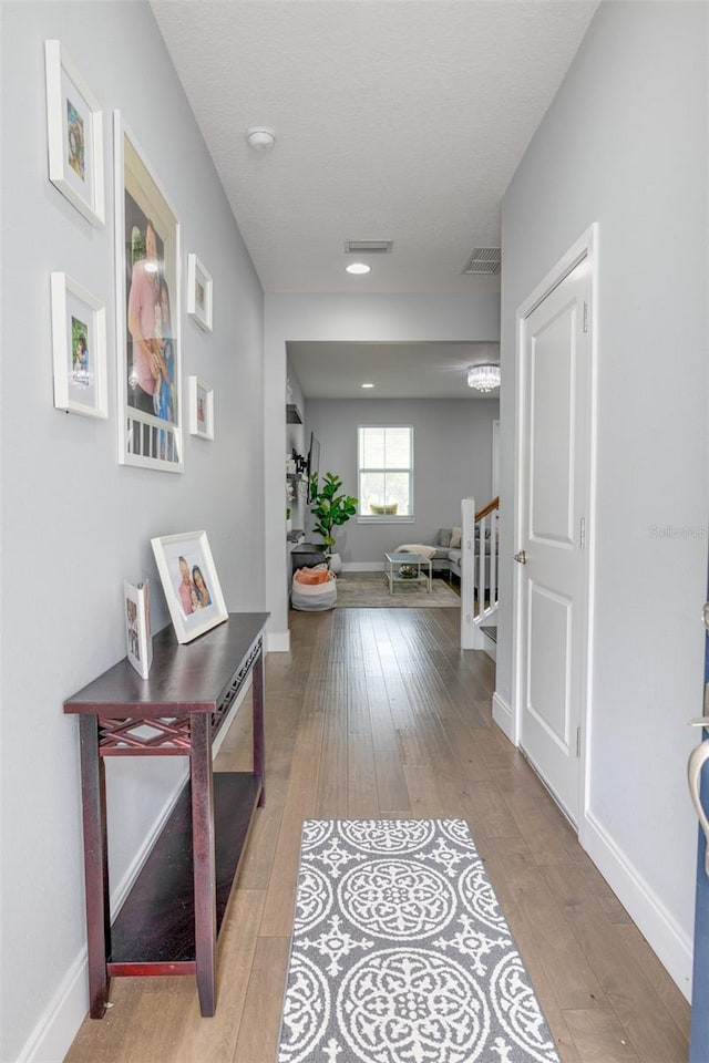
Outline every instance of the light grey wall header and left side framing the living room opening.
<path id="1" fill-rule="evenodd" d="M 500 337 L 496 292 L 471 295 L 266 295 L 266 602 L 271 650 L 287 650 L 287 567 L 282 532 L 286 454 L 286 343 L 296 340 L 481 340 Z"/>

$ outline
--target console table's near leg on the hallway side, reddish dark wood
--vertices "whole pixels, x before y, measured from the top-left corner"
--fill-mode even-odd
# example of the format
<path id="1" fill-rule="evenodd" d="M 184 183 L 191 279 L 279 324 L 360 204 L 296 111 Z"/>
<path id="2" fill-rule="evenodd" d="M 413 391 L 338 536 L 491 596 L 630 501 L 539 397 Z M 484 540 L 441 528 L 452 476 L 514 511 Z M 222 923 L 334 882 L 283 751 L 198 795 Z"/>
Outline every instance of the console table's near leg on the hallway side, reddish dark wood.
<path id="1" fill-rule="evenodd" d="M 207 713 L 191 713 L 189 771 L 195 883 L 195 959 L 199 1010 L 204 1018 L 213 1015 L 216 1010 L 217 908 L 210 729 L 212 721 Z"/>

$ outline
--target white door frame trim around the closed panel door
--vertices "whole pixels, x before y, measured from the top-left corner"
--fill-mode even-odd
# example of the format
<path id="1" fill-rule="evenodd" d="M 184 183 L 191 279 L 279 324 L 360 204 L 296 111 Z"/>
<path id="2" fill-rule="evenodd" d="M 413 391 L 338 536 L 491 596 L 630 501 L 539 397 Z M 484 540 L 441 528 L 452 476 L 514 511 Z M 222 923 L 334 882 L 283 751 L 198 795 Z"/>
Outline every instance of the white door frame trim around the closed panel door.
<path id="1" fill-rule="evenodd" d="M 589 357 L 590 373 L 588 395 L 588 436 L 586 440 L 588 455 L 588 479 L 586 497 L 586 549 L 584 550 L 584 586 L 586 588 L 585 608 L 580 612 L 582 622 L 585 629 L 585 638 L 582 639 L 586 647 L 583 660 L 579 662 L 583 669 L 582 690 L 583 704 L 579 706 L 580 722 L 580 757 L 579 757 L 579 799 L 578 799 L 578 836 L 583 842 L 584 826 L 586 823 L 586 812 L 588 808 L 588 772 L 587 772 L 587 750 L 589 749 L 589 737 L 592 727 L 592 680 L 593 680 L 593 618 L 594 618 L 594 588 L 595 588 L 595 544 L 596 544 L 596 371 L 598 353 L 598 242 L 599 226 L 594 221 L 582 236 L 574 241 L 568 250 L 546 274 L 544 279 L 527 296 L 527 298 L 517 307 L 515 317 L 515 441 L 514 441 L 514 518 L 513 518 L 513 553 L 520 550 L 524 537 L 523 514 L 524 492 L 525 492 L 525 440 L 526 440 L 526 389 L 527 389 L 527 368 L 524 360 L 526 321 L 530 314 L 535 310 L 546 297 L 558 287 L 558 285 L 574 270 L 580 262 L 586 261 L 589 270 L 590 281 L 590 306 L 588 308 L 588 328 L 590 332 Z M 510 737 L 516 746 L 521 744 L 522 739 L 522 719 L 523 704 L 522 694 L 525 689 L 523 682 L 524 669 L 524 646 L 523 636 L 523 610 L 522 610 L 522 580 L 524 571 L 522 566 L 513 564 L 512 578 L 512 734 Z"/>

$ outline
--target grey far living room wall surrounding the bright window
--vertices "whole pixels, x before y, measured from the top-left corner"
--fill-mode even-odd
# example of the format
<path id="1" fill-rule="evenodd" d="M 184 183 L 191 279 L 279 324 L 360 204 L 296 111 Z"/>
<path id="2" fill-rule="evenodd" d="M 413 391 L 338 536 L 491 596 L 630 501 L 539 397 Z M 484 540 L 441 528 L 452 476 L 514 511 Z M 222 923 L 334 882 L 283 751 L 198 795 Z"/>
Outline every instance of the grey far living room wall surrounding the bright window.
<path id="1" fill-rule="evenodd" d="M 499 409 L 496 399 L 308 402 L 308 430 L 320 441 L 320 474 L 333 472 L 341 476 L 342 489 L 350 495 L 358 494 L 358 426 L 413 426 L 415 520 L 358 524 L 353 517 L 337 532 L 337 550 L 346 566 L 354 563 L 373 568 L 382 565 L 384 550 L 402 543 L 432 543 L 439 528 L 460 526 L 463 497 L 472 495 L 480 505 L 490 502 L 492 422 L 499 416 Z"/>

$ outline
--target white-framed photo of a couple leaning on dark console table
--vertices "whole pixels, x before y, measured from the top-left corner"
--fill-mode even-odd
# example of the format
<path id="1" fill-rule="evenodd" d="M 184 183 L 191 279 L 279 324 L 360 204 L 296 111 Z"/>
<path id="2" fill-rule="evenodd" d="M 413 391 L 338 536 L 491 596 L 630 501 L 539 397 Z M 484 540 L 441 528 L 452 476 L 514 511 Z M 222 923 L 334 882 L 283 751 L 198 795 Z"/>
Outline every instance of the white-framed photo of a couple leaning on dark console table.
<path id="1" fill-rule="evenodd" d="M 206 532 L 151 539 L 178 642 L 191 642 L 228 618 Z"/>

